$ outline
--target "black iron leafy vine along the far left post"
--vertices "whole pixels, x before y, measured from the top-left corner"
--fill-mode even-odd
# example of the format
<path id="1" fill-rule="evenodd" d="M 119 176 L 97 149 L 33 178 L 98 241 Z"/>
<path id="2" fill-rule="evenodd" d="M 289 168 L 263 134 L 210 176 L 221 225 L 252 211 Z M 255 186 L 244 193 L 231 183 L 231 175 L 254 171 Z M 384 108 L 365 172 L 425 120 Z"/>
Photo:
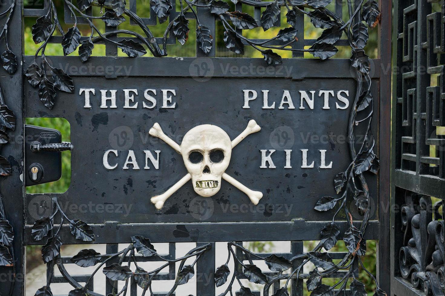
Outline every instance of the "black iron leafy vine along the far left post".
<path id="1" fill-rule="evenodd" d="M 12 1 L 11 5 L 4 11 L 0 13 L 0 17 L 8 16 L 3 28 L 0 31 L 0 41 L 4 40 L 6 50 L 1 54 L 1 65 L 4 70 L 9 74 L 13 75 L 17 71 L 17 58 L 16 55 L 11 51 L 8 43 L 8 29 L 11 24 L 12 16 L 16 8 L 16 2 Z M 16 116 L 8 106 L 3 96 L 3 91 L 0 87 L 0 151 L 5 144 L 9 143 L 9 131 L 14 131 L 16 128 Z M 0 175 L 9 176 L 12 174 L 12 167 L 9 161 L 4 157 L 0 156 Z M 12 273 L 15 275 L 15 256 L 12 243 L 14 241 L 14 230 L 9 223 L 3 204 L 3 196 L 0 193 L 0 266 L 6 266 L 12 268 Z M 13 277 L 10 287 L 9 294 L 12 294 L 14 289 Z"/>

